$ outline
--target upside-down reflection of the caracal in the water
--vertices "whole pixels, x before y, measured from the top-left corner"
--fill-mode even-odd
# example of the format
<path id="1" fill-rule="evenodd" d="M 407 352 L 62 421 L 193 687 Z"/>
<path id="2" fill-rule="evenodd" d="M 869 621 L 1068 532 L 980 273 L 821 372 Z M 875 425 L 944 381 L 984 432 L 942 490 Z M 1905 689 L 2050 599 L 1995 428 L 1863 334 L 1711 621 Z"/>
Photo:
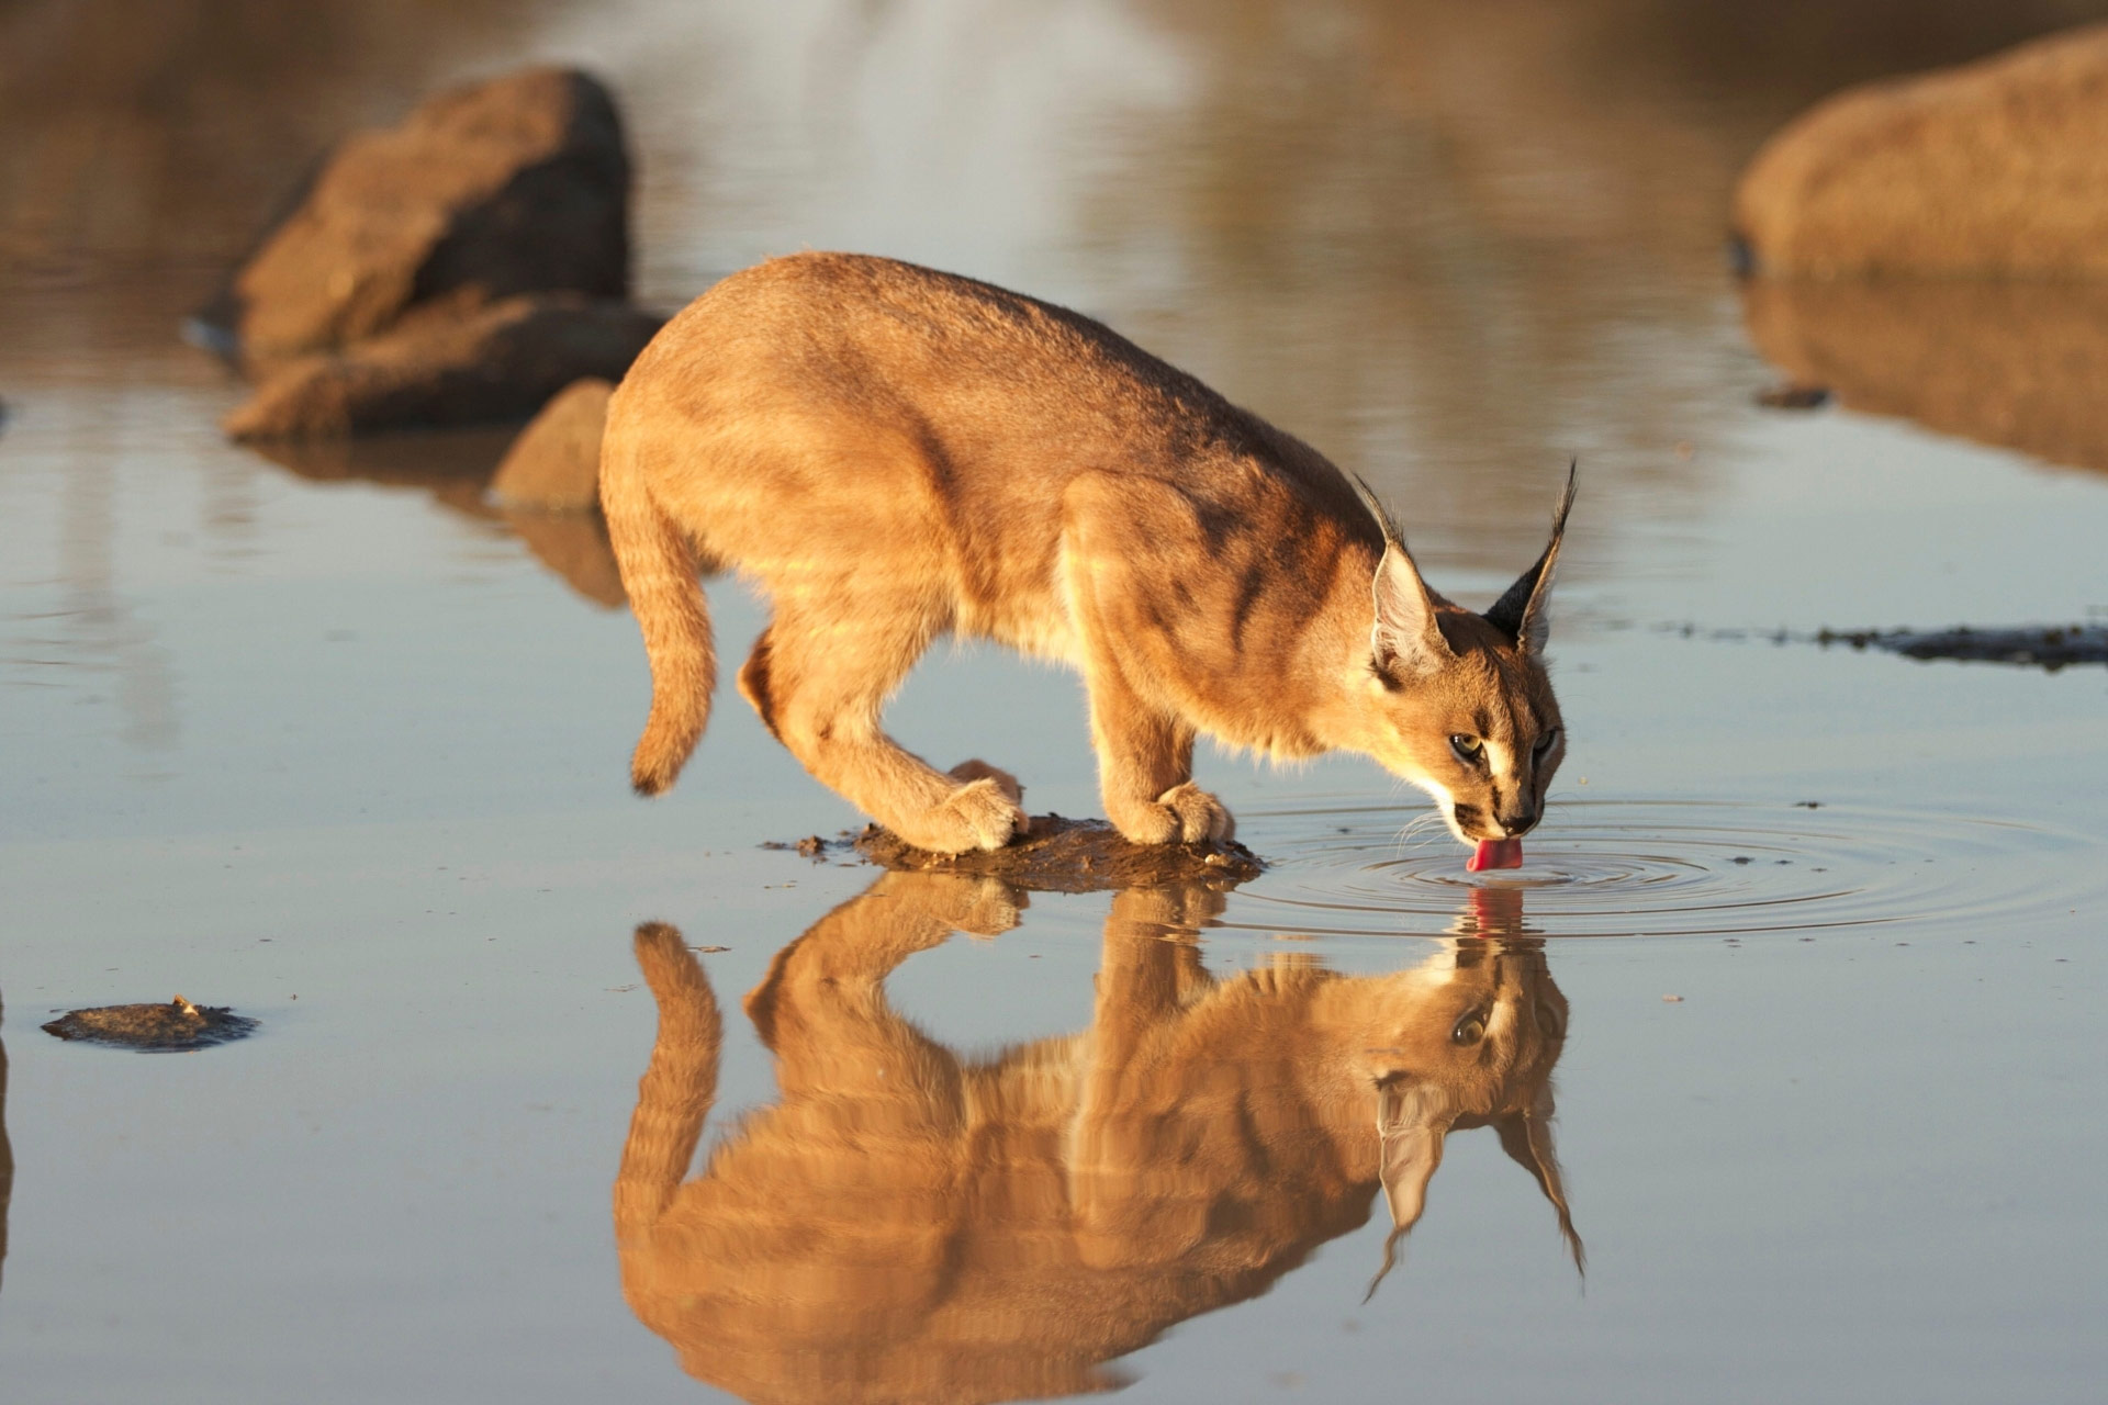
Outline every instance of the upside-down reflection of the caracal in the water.
<path id="1" fill-rule="evenodd" d="M 1419 969 L 1210 977 L 1221 897 L 1115 895 L 1086 1032 L 968 1062 L 885 975 L 1014 910 L 993 880 L 885 874 L 746 998 L 782 1097 L 685 1180 L 719 1013 L 670 927 L 637 933 L 660 1007 L 616 1178 L 622 1287 L 694 1376 L 748 1401 L 997 1401 L 1096 1390 L 1100 1363 L 1263 1293 L 1368 1220 L 1421 1213 L 1450 1129 L 1492 1125 L 1554 1203 L 1566 998 L 1528 944 Z M 1389 1251 L 1385 1251 L 1389 1260 Z"/>

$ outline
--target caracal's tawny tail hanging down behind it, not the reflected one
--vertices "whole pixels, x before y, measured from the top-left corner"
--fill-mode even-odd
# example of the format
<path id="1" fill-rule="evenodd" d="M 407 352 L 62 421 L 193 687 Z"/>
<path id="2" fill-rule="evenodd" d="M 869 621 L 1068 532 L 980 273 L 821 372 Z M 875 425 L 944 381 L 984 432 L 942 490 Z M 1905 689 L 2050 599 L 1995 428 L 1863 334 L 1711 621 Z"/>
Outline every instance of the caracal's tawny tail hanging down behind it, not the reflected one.
<path id="1" fill-rule="evenodd" d="M 622 590 L 651 659 L 651 716 L 630 758 L 630 784 L 637 794 L 651 796 L 681 775 L 710 720 L 717 653 L 696 543 L 651 501 L 639 470 L 639 444 L 618 394 L 601 442 L 601 510 L 622 567 Z"/>

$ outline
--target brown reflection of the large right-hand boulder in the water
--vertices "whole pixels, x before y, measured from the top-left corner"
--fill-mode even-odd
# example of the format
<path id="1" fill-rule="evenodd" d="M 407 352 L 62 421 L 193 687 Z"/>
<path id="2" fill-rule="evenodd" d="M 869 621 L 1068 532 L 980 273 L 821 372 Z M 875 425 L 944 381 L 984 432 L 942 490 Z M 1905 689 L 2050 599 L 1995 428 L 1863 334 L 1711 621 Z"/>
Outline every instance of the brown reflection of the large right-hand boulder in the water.
<path id="1" fill-rule="evenodd" d="M 2108 284 L 1758 280 L 1743 318 L 1847 409 L 2108 470 Z"/>

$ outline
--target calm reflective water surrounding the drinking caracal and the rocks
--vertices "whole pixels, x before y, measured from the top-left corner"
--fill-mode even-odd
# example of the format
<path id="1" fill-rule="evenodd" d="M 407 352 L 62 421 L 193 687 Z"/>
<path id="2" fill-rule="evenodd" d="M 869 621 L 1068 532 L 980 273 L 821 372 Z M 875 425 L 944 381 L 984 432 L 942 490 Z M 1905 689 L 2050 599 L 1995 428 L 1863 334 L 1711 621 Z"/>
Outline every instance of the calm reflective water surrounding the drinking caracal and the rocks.
<path id="1" fill-rule="evenodd" d="M 320 38 L 242 29 L 282 63 L 145 23 L 137 55 L 67 46 L 65 8 L 0 15 L 8 63 L 78 72 L 11 88 L 0 166 L 8 1401 L 852 1399 L 858 1361 L 885 1399 L 2097 1394 L 2108 674 L 1773 642 L 2108 617 L 2095 411 L 2049 379 L 2024 426 L 2000 409 L 2028 318 L 2066 310 L 1935 322 L 1988 318 L 1998 354 L 1944 360 L 1927 404 L 1849 379 L 1910 345 L 1908 308 L 1794 308 L 1842 404 L 1777 413 L 1754 396 L 1798 369 L 1743 318 L 1779 314 L 1718 261 L 1733 171 L 1798 103 L 2074 8 L 1832 6 L 1838 42 L 1638 0 L 632 0 L 447 6 L 409 42 L 390 6 L 318 6 Z M 1364 472 L 1467 602 L 1537 550 L 1579 453 L 1573 746 L 1526 866 L 1467 876 L 1366 763 L 1204 756 L 1273 864 L 1218 908 L 875 889 L 759 849 L 856 817 L 729 689 L 683 786 L 632 800 L 635 626 L 590 533 L 483 503 L 504 438 L 272 461 L 217 436 L 240 392 L 173 339 L 344 122 L 550 55 L 624 95 L 651 301 L 799 246 L 1067 301 Z M 713 609 L 727 640 L 759 628 L 731 588 Z M 1035 811 L 1098 811 L 1065 676 L 938 651 L 892 720 L 1014 769 Z M 913 939 L 879 931 L 913 912 Z M 643 921 L 704 948 L 715 1043 L 658 1036 Z M 999 935 L 936 939 L 951 921 Z M 807 1009 L 778 979 L 772 1053 L 738 996 L 793 942 L 782 969 L 850 952 L 883 998 Z M 1090 1083 L 1132 1060 L 1077 1049 L 1202 967 L 1267 1041 Z M 1499 1093 L 1556 1087 L 1587 1274 L 1543 1159 L 1461 1125 L 1364 1302 L 1383 1108 L 1290 1091 L 1374 1045 L 1296 1001 L 1389 992 L 1400 1028 L 1448 1030 L 1490 971 L 1530 994 L 1499 1030 L 1564 1030 L 1549 1079 L 1522 1060 Z M 177 990 L 261 1028 L 158 1060 L 36 1028 Z M 879 1089 L 858 1041 L 925 1081 Z M 679 1116 L 715 1049 L 694 1167 L 624 1163 L 653 1047 Z M 1124 1178 L 1073 1180 L 1086 1133 Z M 702 1201 L 765 1154 L 786 1209 L 668 1251 L 694 1312 L 666 1317 L 618 1253 L 618 1167 L 687 1167 Z M 942 1192 L 915 1180 L 936 1165 Z M 767 1312 L 694 1317 L 713 1293 Z"/>

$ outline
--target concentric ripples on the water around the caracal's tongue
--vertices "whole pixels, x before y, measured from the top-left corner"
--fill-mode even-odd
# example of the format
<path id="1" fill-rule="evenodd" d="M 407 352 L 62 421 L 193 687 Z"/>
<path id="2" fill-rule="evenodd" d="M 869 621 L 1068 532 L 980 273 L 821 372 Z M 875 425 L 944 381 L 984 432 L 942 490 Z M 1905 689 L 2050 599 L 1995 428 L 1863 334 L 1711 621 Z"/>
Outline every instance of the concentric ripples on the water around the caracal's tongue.
<path id="1" fill-rule="evenodd" d="M 1849 805 L 1560 800 L 1526 864 L 1469 874 L 1425 807 L 1248 813 L 1273 872 L 1227 927 L 1339 935 L 1748 935 L 1882 923 L 2011 929 L 2100 908 L 2108 847 L 2051 828 Z"/>

